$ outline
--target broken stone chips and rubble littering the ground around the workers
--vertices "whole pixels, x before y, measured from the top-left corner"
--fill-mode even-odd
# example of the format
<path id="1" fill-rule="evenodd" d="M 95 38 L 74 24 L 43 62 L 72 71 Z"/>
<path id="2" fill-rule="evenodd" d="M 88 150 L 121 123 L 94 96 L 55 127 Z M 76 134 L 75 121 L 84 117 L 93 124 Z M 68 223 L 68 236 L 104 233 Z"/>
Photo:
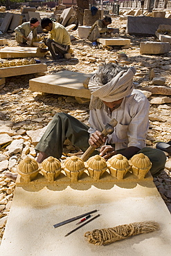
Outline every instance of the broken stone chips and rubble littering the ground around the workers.
<path id="1" fill-rule="evenodd" d="M 26 9 L 25 7 L 22 8 L 24 16 L 28 11 L 34 12 L 34 10 Z M 64 9 L 65 7 L 62 10 Z M 132 15 L 136 15 L 136 13 L 134 10 Z M 47 12 L 42 12 L 42 17 L 46 17 L 46 15 Z M 48 69 L 46 75 L 66 70 L 92 74 L 96 72 L 98 65 L 102 62 L 117 61 L 122 66 L 136 66 L 137 73 L 134 77 L 134 87 L 141 90 L 150 101 L 150 129 L 146 143 L 147 146 L 155 147 L 156 142 L 171 140 L 171 53 L 167 51 L 160 55 L 151 55 L 150 53 L 140 55 L 141 42 L 155 42 L 156 39 L 154 37 L 128 35 L 126 33 L 126 11 L 122 15 L 115 16 L 112 19 L 111 26 L 119 28 L 119 37 L 131 40 L 129 48 L 123 49 L 120 46 L 92 48 L 91 42 L 79 37 L 78 30 L 69 30 L 70 35 L 75 37 L 71 46 L 75 55 L 74 58 L 53 62 L 47 55 L 38 59 L 42 63 L 46 63 Z M 143 15 L 146 15 L 145 12 Z M 167 15 L 169 13 L 165 17 Z M 143 26 L 141 26 L 141 29 L 145 31 Z M 14 37 L 10 33 L 3 33 L 3 40 L 7 40 L 10 47 L 17 46 Z M 3 46 L 0 46 L 0 48 L 3 48 Z M 33 58 L 28 57 L 28 60 L 31 59 Z M 0 60 L 0 62 L 3 61 Z M 26 156 L 36 159 L 35 145 L 44 134 L 48 122 L 52 120 L 55 113 L 69 113 L 88 125 L 89 99 L 84 98 L 84 95 L 82 95 L 83 98 L 75 98 L 69 95 L 48 93 L 43 95 L 37 91 L 30 91 L 28 87 L 29 80 L 35 79 L 35 77 L 36 74 L 6 77 L 6 80 L 3 80 L 0 86 L 0 240 L 3 237 L 15 190 L 15 183 L 6 178 L 4 174 L 8 172 L 17 174 L 17 165 Z M 66 140 L 62 161 L 67 156 L 80 153 L 77 147 Z M 171 212 L 171 158 L 170 154 L 166 153 L 166 156 L 165 170 L 154 178 L 154 183 Z"/>

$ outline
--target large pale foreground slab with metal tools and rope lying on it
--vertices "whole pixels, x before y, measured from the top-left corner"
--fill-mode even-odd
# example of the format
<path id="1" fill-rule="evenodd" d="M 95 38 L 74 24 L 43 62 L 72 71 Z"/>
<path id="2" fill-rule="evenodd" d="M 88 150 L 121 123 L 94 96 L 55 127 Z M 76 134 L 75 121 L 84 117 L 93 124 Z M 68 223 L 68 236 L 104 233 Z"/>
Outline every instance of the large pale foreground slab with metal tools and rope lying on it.
<path id="1" fill-rule="evenodd" d="M 86 212 L 100 214 L 68 237 L 79 220 L 54 228 L 53 225 Z M 156 221 L 160 229 L 135 235 L 107 246 L 89 244 L 84 233 L 140 221 Z M 115 185 L 84 184 L 28 185 L 16 188 L 10 208 L 0 254 L 10 255 L 93 255 L 93 256 L 169 256 L 171 217 L 152 181 Z"/>

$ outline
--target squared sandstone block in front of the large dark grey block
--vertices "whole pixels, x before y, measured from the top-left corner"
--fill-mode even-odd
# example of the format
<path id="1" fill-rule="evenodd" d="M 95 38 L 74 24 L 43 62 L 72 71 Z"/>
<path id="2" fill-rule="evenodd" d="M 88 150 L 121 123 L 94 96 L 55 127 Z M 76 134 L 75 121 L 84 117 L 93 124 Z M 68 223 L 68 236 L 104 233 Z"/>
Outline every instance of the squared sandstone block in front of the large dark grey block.
<path id="1" fill-rule="evenodd" d="M 140 53 L 141 54 L 162 54 L 170 51 L 170 44 L 163 42 L 141 42 Z"/>

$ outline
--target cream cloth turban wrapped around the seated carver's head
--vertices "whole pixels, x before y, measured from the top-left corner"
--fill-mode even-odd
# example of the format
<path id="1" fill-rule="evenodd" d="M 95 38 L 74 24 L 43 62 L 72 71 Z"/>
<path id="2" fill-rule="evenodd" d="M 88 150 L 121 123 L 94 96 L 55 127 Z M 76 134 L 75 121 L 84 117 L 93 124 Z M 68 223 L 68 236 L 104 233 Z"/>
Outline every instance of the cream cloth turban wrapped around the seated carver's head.
<path id="1" fill-rule="evenodd" d="M 95 104 L 96 100 L 100 98 L 101 101 L 114 102 L 125 98 L 132 93 L 133 90 L 133 77 L 136 73 L 134 66 L 128 68 L 127 71 L 120 71 L 110 82 L 107 84 L 99 84 L 96 82 L 96 74 L 89 80 L 89 90 L 91 92 L 90 108 L 100 108 L 100 101 Z M 101 102 L 102 103 L 102 102 Z M 102 105 L 102 104 L 101 104 Z"/>

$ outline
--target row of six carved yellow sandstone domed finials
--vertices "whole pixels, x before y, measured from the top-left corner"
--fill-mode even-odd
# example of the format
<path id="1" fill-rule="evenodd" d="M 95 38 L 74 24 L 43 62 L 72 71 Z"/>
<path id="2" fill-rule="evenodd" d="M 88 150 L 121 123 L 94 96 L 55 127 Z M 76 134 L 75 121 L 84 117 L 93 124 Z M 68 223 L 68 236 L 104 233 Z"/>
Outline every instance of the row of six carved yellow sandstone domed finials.
<path id="1" fill-rule="evenodd" d="M 152 180 L 149 173 L 152 163 L 144 154 L 136 154 L 129 161 L 121 154 L 105 161 L 99 155 L 91 156 L 86 162 L 78 156 L 71 156 L 61 163 L 49 156 L 42 164 L 26 157 L 17 166 L 17 185 L 24 183 L 93 183 Z"/>

